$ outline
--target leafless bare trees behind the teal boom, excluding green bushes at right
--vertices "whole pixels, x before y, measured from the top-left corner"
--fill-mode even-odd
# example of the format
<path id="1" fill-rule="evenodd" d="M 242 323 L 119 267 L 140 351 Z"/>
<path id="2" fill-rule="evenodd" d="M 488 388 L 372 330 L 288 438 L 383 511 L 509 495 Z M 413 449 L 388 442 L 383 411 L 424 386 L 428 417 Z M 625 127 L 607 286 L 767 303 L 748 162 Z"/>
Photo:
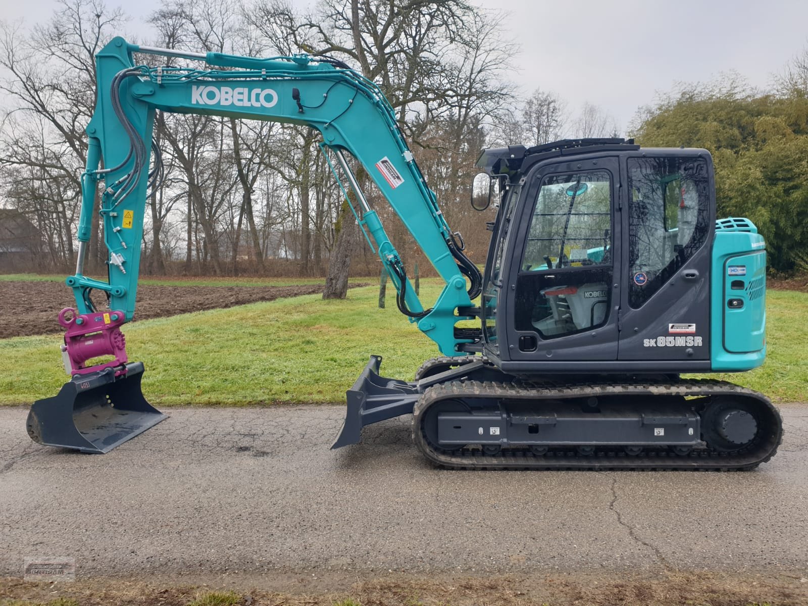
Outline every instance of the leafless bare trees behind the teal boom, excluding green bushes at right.
<path id="1" fill-rule="evenodd" d="M 44 23 L 2 25 L 2 205 L 19 209 L 42 234 L 40 268 L 68 269 L 75 261 L 94 56 L 126 32 L 127 19 L 101 0 L 59 0 Z M 152 36 L 133 41 L 347 62 L 381 86 L 450 225 L 482 263 L 491 217 L 471 213 L 467 202 L 480 150 L 563 133 L 561 99 L 537 90 L 521 100 L 508 81 L 517 48 L 503 38 L 503 19 L 464 0 L 322 0 L 309 12 L 284 0 L 164 0 L 149 16 Z M 600 116 L 597 107 L 588 110 Z M 602 134 L 597 124 L 581 124 L 582 136 Z M 158 112 L 155 136 L 166 178 L 148 200 L 143 271 L 323 275 L 339 266 L 344 279 L 351 259 L 356 271 L 375 271 L 314 129 Z M 365 185 L 372 190 L 369 180 Z M 418 260 L 379 193 L 368 197 L 405 260 Z M 94 221 L 87 265 L 101 271 L 106 251 L 97 213 Z"/>

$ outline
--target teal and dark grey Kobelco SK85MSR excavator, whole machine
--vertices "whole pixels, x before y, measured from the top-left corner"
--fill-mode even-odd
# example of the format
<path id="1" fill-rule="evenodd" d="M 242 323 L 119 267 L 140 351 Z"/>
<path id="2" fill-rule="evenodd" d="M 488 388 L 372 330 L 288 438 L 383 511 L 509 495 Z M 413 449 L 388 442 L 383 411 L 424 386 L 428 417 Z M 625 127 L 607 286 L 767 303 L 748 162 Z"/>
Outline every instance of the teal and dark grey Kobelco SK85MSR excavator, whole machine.
<path id="1" fill-rule="evenodd" d="M 134 61 L 145 55 L 190 66 Z M 76 307 L 58 316 L 70 379 L 32 405 L 36 442 L 108 452 L 165 418 L 146 401 L 143 364 L 128 360 L 121 332 L 135 312 L 147 196 L 162 179 L 159 110 L 316 128 L 398 309 L 440 350 L 413 381 L 382 377 L 381 357 L 371 356 L 347 390 L 332 448 L 412 415 L 416 448 L 444 468 L 740 470 L 776 453 L 781 416 L 764 394 L 681 377 L 747 371 L 766 354 L 764 238 L 747 219 L 716 219 L 707 150 L 617 138 L 484 149 L 471 203 L 493 204 L 496 217 L 481 272 L 385 95 L 343 62 L 116 37 L 96 69 L 78 261 L 66 279 Z M 356 164 L 443 280 L 431 306 L 412 288 Z M 106 282 L 83 274 L 97 196 Z M 93 291 L 108 309 L 96 309 Z"/>

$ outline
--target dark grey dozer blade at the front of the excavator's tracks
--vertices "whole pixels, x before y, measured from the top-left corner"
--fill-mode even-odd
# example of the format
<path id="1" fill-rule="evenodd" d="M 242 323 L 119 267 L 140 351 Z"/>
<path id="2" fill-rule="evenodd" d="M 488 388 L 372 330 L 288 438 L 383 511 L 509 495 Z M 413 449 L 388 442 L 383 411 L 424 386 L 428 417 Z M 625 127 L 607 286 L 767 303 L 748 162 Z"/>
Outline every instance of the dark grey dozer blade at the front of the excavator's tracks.
<path id="1" fill-rule="evenodd" d="M 370 356 L 368 365 L 348 389 L 343 427 L 331 448 L 358 444 L 362 427 L 409 415 L 419 397 L 418 384 L 379 375 L 381 356 Z"/>

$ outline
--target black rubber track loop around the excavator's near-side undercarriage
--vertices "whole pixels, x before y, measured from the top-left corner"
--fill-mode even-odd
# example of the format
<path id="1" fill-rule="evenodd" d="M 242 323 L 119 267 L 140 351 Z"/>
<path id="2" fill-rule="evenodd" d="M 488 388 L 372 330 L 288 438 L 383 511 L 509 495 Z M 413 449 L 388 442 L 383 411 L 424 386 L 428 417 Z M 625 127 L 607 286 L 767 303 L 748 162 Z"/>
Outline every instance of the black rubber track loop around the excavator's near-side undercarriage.
<path id="1" fill-rule="evenodd" d="M 503 448 L 500 454 L 488 456 L 479 449 L 463 448 L 460 452 L 441 452 L 432 448 L 423 432 L 424 413 L 445 399 L 495 398 L 511 400 L 543 400 L 563 398 L 603 398 L 619 396 L 730 396 L 751 398 L 770 413 L 768 426 L 755 444 L 740 452 L 716 452 L 696 449 L 686 456 L 672 452 L 649 450 L 637 457 L 621 452 L 619 447 L 602 447 L 594 455 L 584 456 L 574 449 L 552 449 L 545 455 L 533 455 L 527 448 Z M 415 404 L 412 417 L 413 441 L 418 449 L 436 465 L 449 469 L 634 469 L 634 470 L 715 470 L 740 471 L 755 469 L 771 459 L 783 439 L 780 412 L 762 393 L 726 381 L 683 380 L 667 384 L 555 384 L 518 385 L 479 381 L 454 381 L 434 385 L 425 390 Z"/>

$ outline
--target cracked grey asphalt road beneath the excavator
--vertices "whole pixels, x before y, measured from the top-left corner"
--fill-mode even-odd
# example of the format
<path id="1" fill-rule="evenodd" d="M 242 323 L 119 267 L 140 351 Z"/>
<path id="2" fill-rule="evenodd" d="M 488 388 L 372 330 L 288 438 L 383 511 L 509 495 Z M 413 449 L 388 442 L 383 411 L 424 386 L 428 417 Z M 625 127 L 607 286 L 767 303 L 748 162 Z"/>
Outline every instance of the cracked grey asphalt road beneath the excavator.
<path id="1" fill-rule="evenodd" d="M 808 406 L 747 473 L 446 471 L 409 417 L 330 451 L 341 406 L 172 409 L 107 455 L 33 444 L 0 409 L 0 576 L 796 570 L 808 576 Z"/>

